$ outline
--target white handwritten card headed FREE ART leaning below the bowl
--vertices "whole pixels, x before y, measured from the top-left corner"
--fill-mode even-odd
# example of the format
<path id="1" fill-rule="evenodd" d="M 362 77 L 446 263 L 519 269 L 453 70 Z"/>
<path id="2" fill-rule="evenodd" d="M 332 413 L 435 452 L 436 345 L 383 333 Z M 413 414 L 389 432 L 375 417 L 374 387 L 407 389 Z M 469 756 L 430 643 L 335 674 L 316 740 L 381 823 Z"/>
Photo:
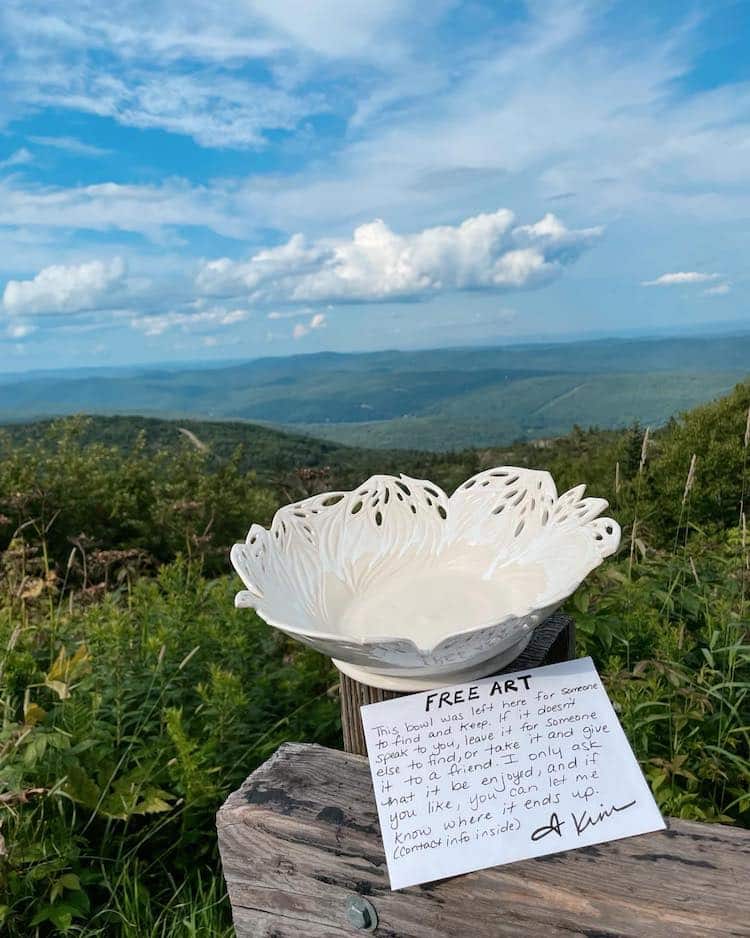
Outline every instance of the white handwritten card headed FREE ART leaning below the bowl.
<path id="1" fill-rule="evenodd" d="M 362 721 L 392 889 L 665 826 L 591 658 Z"/>

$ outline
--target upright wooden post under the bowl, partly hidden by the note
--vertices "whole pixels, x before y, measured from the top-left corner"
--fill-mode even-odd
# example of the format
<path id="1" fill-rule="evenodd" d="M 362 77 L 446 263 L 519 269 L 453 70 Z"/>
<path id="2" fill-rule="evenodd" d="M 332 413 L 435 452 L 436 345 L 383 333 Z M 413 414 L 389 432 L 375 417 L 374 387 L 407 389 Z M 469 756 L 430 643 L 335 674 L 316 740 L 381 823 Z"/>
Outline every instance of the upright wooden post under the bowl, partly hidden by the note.
<path id="1" fill-rule="evenodd" d="M 538 668 L 543 664 L 557 664 L 558 661 L 570 661 L 575 657 L 576 626 L 575 620 L 562 613 L 555 613 L 534 629 L 531 641 L 521 654 L 507 667 L 502 674 L 518 671 L 522 668 Z M 360 684 L 341 674 L 341 731 L 344 737 L 344 751 L 367 755 L 365 736 L 362 729 L 362 716 L 359 708 L 362 704 L 379 703 L 381 700 L 392 700 L 394 697 L 403 697 L 403 693 L 392 690 L 382 690 L 380 687 L 369 687 Z"/>

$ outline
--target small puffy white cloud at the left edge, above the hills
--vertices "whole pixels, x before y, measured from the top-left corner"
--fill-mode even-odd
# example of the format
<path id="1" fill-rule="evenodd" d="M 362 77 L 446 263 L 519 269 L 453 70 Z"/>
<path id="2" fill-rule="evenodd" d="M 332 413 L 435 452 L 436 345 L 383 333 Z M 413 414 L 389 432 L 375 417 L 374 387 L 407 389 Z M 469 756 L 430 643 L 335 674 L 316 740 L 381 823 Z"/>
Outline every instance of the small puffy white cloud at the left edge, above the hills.
<path id="1" fill-rule="evenodd" d="M 101 308 L 106 297 L 122 287 L 125 264 L 89 261 L 40 270 L 33 280 L 9 280 L 3 291 L 3 307 L 10 315 L 77 313 Z"/>

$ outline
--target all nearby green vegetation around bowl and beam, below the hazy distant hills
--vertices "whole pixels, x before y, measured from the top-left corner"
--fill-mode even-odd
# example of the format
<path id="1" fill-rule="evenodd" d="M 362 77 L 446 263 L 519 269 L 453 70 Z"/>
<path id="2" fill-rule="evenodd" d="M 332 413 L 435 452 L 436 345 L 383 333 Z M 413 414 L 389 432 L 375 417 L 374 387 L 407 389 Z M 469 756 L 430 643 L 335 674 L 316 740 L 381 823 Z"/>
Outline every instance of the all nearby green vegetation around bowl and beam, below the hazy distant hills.
<path id="1" fill-rule="evenodd" d="M 750 825 L 749 411 L 745 384 L 653 434 L 442 455 L 143 418 L 0 432 L 5 932 L 231 934 L 216 808 L 339 724 L 330 663 L 233 609 L 227 548 L 290 497 L 396 468 L 451 490 L 530 465 L 609 498 L 623 545 L 570 602 L 578 651 L 662 810 Z"/>

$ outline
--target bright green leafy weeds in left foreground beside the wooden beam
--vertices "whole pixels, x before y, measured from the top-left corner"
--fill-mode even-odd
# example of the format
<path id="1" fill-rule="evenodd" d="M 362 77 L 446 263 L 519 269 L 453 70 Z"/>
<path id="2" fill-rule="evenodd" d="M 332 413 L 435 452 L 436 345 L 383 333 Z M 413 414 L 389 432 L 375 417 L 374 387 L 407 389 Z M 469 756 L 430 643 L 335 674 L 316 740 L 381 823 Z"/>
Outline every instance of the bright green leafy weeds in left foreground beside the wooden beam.
<path id="1" fill-rule="evenodd" d="M 72 614 L 48 617 L 42 594 L 3 609 L 10 934 L 140 936 L 125 906 L 215 903 L 227 793 L 286 739 L 339 739 L 330 662 L 236 612 L 234 588 L 176 562 Z"/>

